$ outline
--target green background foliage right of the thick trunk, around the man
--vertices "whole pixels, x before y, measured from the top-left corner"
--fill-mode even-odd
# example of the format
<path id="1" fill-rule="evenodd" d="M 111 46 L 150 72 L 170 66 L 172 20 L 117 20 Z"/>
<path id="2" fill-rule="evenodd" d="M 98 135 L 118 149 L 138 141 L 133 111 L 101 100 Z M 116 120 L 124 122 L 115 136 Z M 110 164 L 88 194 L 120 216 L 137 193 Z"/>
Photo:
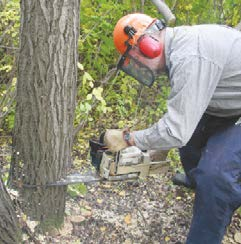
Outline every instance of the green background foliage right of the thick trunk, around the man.
<path id="1" fill-rule="evenodd" d="M 236 25 L 240 21 L 241 3 L 238 0 L 166 2 L 177 17 L 177 25 Z M 165 77 L 151 89 L 142 87 L 122 72 L 108 77 L 118 60 L 112 41 L 113 28 L 123 15 L 135 11 L 162 18 L 151 1 L 145 1 L 145 6 L 141 1 L 131 0 L 82 2 L 79 54 L 85 70 L 79 76 L 76 125 L 85 120 L 91 127 L 129 125 L 140 129 L 158 121 L 165 113 L 169 94 Z M 101 95 L 99 99 L 94 94 L 96 91 Z"/>

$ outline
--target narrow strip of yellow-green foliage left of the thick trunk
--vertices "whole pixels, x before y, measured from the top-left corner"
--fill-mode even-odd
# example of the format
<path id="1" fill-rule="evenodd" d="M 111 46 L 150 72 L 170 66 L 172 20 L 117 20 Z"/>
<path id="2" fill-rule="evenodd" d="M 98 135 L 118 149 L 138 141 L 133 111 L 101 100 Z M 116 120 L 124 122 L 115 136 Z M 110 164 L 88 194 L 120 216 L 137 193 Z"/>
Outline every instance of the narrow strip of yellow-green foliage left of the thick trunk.
<path id="1" fill-rule="evenodd" d="M 0 125 L 5 131 L 10 131 L 15 113 L 19 1 L 2 1 L 0 10 Z"/>

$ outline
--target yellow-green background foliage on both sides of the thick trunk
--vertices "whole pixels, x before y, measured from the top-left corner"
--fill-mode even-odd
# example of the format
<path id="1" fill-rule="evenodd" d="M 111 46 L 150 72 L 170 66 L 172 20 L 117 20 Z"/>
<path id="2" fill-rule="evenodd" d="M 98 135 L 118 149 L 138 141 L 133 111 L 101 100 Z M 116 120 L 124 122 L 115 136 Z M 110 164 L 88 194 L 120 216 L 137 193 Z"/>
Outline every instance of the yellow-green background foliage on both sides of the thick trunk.
<path id="1" fill-rule="evenodd" d="M 177 17 L 177 25 L 222 23 L 231 26 L 240 21 L 239 0 L 201 1 L 167 0 Z M 0 125 L 10 131 L 14 121 L 16 56 L 19 44 L 19 0 L 0 4 Z M 169 88 L 162 77 L 151 89 L 142 87 L 114 68 L 118 60 L 112 32 L 125 14 L 144 12 L 162 18 L 151 1 L 81 1 L 79 76 L 75 126 L 123 127 L 136 129 L 157 121 L 166 109 Z"/>

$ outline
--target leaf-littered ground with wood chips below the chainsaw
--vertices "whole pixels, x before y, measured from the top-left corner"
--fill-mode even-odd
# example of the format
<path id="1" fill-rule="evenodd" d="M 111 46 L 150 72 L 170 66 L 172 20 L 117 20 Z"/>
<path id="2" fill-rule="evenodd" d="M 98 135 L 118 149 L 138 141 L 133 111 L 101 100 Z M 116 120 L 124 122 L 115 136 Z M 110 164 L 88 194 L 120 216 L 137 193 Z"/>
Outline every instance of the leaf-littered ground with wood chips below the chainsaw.
<path id="1" fill-rule="evenodd" d="M 88 185 L 85 195 L 68 198 L 63 228 L 41 243 L 185 243 L 194 192 L 174 186 L 172 175 Z M 223 244 L 241 243 L 240 233 L 236 214 Z"/>

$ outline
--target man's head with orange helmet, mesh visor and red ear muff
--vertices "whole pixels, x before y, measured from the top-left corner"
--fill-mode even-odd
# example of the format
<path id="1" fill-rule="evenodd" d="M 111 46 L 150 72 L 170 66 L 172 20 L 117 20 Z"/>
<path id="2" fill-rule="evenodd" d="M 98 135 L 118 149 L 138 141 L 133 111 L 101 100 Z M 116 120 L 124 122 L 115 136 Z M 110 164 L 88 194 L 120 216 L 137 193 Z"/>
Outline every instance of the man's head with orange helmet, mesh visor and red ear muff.
<path id="1" fill-rule="evenodd" d="M 118 68 L 151 86 L 162 69 L 164 42 L 160 31 L 164 28 L 162 21 L 145 14 L 122 17 L 113 32 L 115 47 L 122 55 Z"/>

